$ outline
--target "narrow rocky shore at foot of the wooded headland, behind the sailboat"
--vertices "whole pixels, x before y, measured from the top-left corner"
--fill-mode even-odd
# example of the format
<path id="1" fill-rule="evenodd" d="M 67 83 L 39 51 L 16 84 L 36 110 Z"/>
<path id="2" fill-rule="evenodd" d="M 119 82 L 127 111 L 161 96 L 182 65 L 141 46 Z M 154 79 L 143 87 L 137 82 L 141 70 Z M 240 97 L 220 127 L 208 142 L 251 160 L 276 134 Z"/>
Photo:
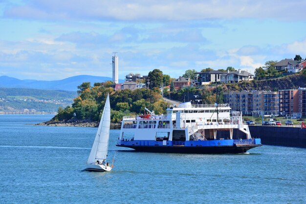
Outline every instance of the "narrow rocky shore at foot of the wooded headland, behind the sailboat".
<path id="1" fill-rule="evenodd" d="M 98 121 L 76 121 L 76 120 L 68 120 L 68 121 L 47 121 L 40 122 L 35 125 L 47 125 L 47 126 L 73 126 L 73 127 L 98 127 Z M 110 129 L 120 129 L 121 124 L 119 123 L 110 123 Z"/>

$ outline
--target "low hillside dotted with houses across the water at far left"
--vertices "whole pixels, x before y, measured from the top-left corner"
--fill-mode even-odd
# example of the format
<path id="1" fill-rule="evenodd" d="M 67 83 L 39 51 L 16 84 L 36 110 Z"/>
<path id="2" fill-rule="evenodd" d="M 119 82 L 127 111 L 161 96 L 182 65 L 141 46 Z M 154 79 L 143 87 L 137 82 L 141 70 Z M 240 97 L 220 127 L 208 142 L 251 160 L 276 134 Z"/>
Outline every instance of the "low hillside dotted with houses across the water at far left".
<path id="1" fill-rule="evenodd" d="M 0 88 L 0 111 L 54 109 L 71 105 L 76 92 L 27 88 Z"/>

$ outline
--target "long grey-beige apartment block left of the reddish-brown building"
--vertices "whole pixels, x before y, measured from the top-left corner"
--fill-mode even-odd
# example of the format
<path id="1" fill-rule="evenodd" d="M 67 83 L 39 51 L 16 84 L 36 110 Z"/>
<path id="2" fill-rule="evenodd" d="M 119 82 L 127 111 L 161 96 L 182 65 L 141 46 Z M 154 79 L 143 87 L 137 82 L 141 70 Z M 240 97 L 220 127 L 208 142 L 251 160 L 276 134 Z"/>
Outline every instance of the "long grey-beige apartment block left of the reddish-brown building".
<path id="1" fill-rule="evenodd" d="M 223 101 L 243 115 L 279 115 L 277 91 L 229 91 L 223 94 Z"/>

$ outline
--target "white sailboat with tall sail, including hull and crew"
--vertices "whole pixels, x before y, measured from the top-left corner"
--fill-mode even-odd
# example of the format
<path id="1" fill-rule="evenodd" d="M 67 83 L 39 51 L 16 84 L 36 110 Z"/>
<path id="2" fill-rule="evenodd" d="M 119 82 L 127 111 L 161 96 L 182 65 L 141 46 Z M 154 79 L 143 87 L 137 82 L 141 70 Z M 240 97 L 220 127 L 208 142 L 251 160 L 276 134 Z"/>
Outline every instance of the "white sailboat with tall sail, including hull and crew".
<path id="1" fill-rule="evenodd" d="M 87 163 L 87 171 L 110 171 L 112 165 L 106 162 L 109 147 L 110 104 L 107 96 L 98 131 L 94 139 Z"/>

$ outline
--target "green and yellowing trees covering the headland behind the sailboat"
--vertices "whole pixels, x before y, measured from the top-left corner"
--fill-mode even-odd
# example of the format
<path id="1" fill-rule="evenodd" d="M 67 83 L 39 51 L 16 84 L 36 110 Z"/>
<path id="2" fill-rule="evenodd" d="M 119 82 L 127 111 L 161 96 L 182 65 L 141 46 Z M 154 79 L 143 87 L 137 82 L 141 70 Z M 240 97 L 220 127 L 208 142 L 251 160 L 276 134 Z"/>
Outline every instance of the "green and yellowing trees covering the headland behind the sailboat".
<path id="1" fill-rule="evenodd" d="M 157 114 L 164 114 L 168 103 L 162 100 L 158 88 L 152 90 L 142 88 L 131 91 L 130 89 L 114 91 L 111 83 L 83 82 L 78 86 L 78 97 L 71 106 L 59 108 L 53 121 L 63 120 L 90 120 L 98 121 L 107 95 L 109 94 L 111 107 L 111 122 L 120 122 L 123 116 L 144 113 L 144 108 L 153 110 Z"/>

